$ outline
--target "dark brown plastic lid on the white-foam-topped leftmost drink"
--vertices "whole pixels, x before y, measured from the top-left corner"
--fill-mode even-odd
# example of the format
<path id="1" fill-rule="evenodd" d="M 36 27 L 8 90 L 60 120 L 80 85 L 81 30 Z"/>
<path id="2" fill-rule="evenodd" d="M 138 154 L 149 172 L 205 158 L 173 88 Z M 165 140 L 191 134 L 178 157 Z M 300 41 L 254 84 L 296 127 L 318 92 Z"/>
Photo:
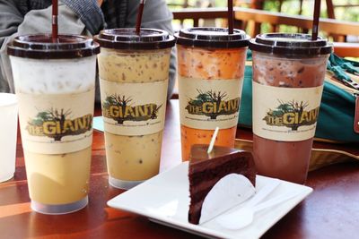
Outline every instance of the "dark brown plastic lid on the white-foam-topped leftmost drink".
<path id="1" fill-rule="evenodd" d="M 14 38 L 7 53 L 24 58 L 72 59 L 99 54 L 100 45 L 79 35 L 59 35 L 56 43 L 50 34 L 25 35 Z"/>

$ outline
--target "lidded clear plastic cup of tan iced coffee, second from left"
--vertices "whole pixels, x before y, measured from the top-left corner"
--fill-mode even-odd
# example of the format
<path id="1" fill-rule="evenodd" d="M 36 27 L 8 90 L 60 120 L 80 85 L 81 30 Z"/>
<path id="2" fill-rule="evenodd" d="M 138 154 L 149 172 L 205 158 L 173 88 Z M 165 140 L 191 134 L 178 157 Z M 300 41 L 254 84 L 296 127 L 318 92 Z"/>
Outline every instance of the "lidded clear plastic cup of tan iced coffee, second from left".
<path id="1" fill-rule="evenodd" d="M 129 189 L 159 173 L 174 38 L 117 29 L 95 39 L 109 184 Z"/>

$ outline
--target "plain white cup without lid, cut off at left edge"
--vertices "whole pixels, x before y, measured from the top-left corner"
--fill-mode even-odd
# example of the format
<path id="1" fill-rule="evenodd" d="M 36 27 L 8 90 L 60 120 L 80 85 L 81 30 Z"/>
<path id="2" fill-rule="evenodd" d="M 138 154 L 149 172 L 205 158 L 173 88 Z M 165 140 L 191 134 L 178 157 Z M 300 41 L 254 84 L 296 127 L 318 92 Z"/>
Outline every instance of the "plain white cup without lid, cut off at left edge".
<path id="1" fill-rule="evenodd" d="M 14 94 L 0 93 L 0 183 L 13 177 L 15 172 L 17 139 L 17 98 Z"/>

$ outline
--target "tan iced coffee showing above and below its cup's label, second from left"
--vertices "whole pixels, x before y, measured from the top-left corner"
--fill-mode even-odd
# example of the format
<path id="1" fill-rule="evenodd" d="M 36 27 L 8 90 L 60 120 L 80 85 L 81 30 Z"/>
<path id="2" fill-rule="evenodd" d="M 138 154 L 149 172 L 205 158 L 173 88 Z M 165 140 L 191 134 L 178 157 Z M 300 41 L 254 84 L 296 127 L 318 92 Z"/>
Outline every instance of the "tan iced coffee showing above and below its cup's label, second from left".
<path id="1" fill-rule="evenodd" d="M 98 59 L 102 82 L 114 81 L 120 84 L 163 81 L 167 85 L 170 49 L 118 52 L 101 48 Z M 162 131 L 130 136 L 105 131 L 105 142 L 110 176 L 125 181 L 144 181 L 158 174 Z"/>

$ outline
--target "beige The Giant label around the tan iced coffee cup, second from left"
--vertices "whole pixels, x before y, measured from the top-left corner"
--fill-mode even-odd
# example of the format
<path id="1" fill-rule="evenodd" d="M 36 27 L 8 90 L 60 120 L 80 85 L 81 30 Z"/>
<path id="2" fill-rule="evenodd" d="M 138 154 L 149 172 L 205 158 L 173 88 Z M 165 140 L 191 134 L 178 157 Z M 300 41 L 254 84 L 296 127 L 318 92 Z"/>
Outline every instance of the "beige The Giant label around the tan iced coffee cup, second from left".
<path id="1" fill-rule="evenodd" d="M 168 79 L 146 83 L 100 81 L 106 132 L 145 135 L 163 130 Z"/>

